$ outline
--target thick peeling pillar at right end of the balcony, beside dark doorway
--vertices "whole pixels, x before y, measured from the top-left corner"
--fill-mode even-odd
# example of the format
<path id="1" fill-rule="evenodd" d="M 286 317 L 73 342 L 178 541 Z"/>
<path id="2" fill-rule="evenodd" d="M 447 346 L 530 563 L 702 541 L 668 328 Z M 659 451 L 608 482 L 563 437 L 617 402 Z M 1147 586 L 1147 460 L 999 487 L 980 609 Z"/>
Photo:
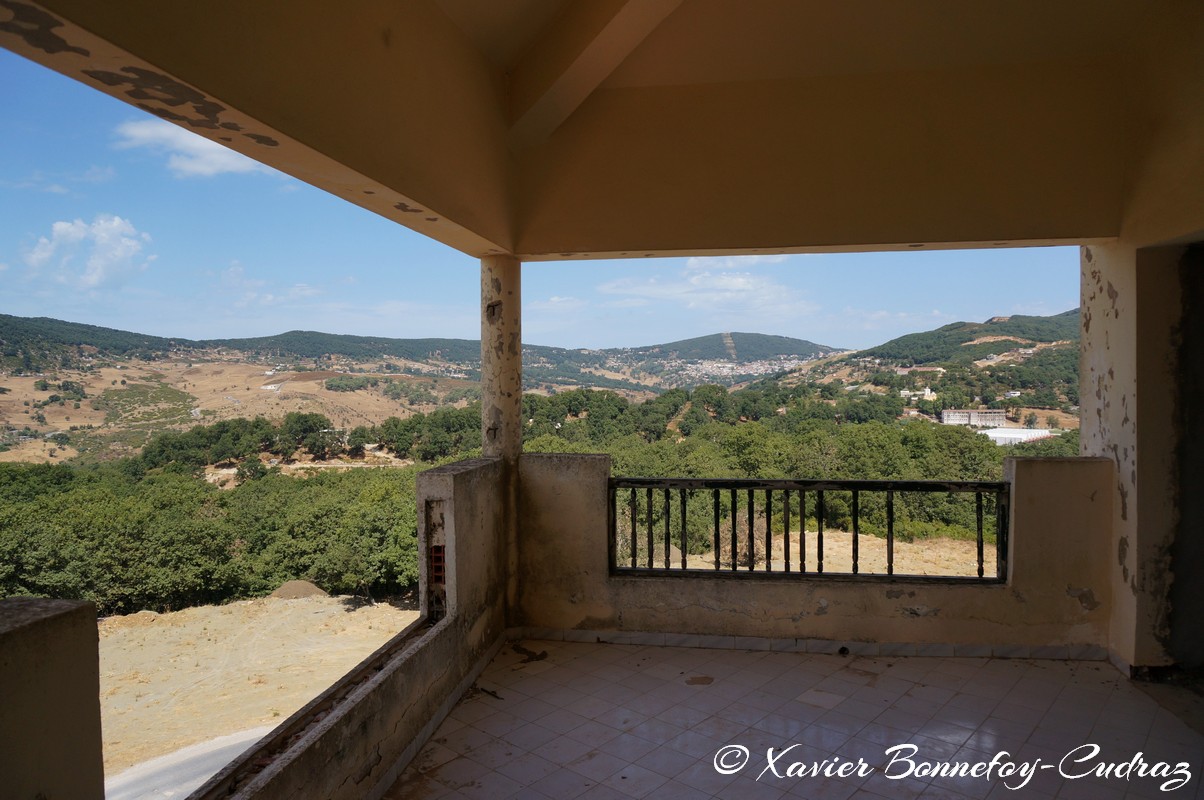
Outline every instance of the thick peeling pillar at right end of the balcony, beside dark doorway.
<path id="1" fill-rule="evenodd" d="M 1170 658 L 1181 254 L 1123 242 L 1082 248 L 1081 451 L 1116 464 L 1110 639 L 1127 666 Z"/>

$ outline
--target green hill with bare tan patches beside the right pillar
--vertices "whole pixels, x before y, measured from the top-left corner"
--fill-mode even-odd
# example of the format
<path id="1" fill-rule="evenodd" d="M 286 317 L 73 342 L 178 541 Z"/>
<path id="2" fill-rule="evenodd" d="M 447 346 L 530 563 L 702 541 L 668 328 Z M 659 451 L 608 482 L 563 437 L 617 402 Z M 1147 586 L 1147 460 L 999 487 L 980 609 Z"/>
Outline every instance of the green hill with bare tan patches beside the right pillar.
<path id="1" fill-rule="evenodd" d="M 901 366 L 969 364 L 1017 347 L 1079 341 L 1079 310 L 1052 317 L 995 317 L 982 323 L 955 322 L 920 334 L 908 334 L 862 351 Z"/>

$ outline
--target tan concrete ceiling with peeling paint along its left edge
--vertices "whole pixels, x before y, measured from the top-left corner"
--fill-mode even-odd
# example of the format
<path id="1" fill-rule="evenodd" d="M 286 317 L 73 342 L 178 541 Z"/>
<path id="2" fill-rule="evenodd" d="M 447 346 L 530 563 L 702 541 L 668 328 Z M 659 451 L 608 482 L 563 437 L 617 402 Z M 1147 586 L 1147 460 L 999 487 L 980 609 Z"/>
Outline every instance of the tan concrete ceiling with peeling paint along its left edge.
<path id="1" fill-rule="evenodd" d="M 1190 0 L 0 0 L 0 46 L 526 259 L 1115 237 L 1199 122 L 1202 30 Z"/>

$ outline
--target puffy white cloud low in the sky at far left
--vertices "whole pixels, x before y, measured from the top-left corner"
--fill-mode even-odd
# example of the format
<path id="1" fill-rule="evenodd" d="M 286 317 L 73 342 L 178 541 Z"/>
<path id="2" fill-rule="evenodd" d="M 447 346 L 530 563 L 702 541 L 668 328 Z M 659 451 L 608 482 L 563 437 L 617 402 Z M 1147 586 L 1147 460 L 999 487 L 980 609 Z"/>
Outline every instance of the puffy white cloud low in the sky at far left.
<path id="1" fill-rule="evenodd" d="M 142 255 L 150 235 L 114 214 L 57 222 L 25 254 L 31 273 L 77 289 L 100 289 L 122 283 L 154 260 Z"/>

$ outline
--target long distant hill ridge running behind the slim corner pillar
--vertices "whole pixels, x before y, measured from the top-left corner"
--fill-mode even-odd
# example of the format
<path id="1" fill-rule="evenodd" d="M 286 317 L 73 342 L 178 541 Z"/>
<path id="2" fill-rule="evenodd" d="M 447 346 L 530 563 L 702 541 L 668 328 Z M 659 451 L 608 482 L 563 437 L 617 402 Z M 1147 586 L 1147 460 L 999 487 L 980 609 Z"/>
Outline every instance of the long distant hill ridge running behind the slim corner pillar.
<path id="1" fill-rule="evenodd" d="M 698 383 L 732 384 L 781 372 L 834 352 L 832 347 L 765 334 L 713 334 L 665 345 L 569 349 L 524 345 L 531 388 L 600 387 L 635 392 Z M 148 336 L 47 317 L 0 316 L 0 370 L 33 375 L 89 370 L 129 360 L 232 358 L 314 370 L 411 372 L 478 380 L 480 342 L 471 339 L 390 339 L 290 330 L 249 339 Z"/>

